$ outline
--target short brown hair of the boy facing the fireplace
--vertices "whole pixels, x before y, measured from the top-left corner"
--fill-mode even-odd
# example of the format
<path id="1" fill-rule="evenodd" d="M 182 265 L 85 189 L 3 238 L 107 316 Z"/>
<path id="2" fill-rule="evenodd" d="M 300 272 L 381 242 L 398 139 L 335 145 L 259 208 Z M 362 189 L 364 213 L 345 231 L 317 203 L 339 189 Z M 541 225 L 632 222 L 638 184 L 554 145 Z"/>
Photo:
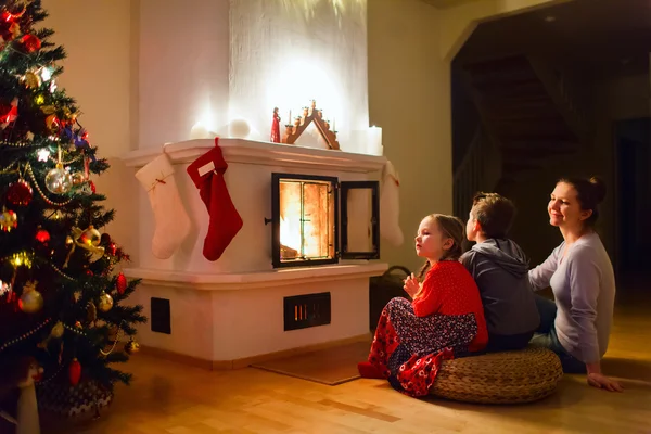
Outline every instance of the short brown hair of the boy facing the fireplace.
<path id="1" fill-rule="evenodd" d="M 488 238 L 507 238 L 515 219 L 515 205 L 497 193 L 478 192 L 472 200 L 472 217 Z"/>

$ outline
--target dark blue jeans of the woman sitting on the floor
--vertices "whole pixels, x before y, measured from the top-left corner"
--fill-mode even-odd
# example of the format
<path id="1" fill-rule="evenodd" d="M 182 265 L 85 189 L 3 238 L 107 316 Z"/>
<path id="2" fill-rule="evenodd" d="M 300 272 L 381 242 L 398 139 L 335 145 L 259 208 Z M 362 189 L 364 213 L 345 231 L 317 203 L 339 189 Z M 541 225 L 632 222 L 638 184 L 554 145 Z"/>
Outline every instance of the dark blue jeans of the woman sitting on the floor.
<path id="1" fill-rule="evenodd" d="M 553 322 L 557 315 L 556 303 L 551 299 L 535 295 L 536 307 L 540 315 L 540 327 L 536 330 L 531 343 L 535 346 L 549 348 L 561 359 L 563 372 L 565 373 L 586 373 L 586 363 L 571 356 L 559 342 Z"/>

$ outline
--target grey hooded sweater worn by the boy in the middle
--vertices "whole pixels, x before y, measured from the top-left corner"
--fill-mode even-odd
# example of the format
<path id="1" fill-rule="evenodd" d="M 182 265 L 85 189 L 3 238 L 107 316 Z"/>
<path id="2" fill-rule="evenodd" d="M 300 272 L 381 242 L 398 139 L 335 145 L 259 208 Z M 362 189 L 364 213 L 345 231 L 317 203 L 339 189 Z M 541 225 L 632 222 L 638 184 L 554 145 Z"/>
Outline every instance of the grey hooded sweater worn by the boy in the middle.
<path id="1" fill-rule="evenodd" d="M 461 256 L 482 296 L 489 334 L 513 335 L 540 323 L 528 279 L 528 259 L 508 239 L 488 239 Z"/>

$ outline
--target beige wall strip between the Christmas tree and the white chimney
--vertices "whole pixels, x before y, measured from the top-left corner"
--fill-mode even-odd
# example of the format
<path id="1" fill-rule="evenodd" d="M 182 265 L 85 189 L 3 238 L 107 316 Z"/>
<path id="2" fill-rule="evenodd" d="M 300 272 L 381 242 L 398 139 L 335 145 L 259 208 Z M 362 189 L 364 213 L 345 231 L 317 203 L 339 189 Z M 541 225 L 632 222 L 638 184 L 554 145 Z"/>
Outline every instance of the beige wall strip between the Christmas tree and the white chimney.
<path id="1" fill-rule="evenodd" d="M 108 232 L 128 253 L 135 252 L 137 219 L 132 191 L 132 170 L 119 157 L 131 149 L 133 117 L 130 102 L 131 28 L 129 0 L 43 0 L 50 16 L 44 27 L 54 29 L 52 41 L 63 44 L 67 59 L 58 85 L 75 98 L 82 111 L 79 122 L 89 131 L 91 144 L 111 169 L 93 177 L 98 191 L 105 194 L 104 205 L 116 210 L 116 219 L 102 232 Z"/>

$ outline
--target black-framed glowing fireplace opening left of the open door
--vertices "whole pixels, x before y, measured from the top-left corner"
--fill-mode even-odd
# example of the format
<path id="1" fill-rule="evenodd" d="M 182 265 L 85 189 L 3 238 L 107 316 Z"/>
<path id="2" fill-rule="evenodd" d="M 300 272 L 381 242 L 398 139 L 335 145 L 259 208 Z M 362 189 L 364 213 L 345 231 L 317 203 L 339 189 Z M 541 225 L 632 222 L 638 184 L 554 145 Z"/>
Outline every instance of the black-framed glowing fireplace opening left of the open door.
<path id="1" fill-rule="evenodd" d="M 337 179 L 272 175 L 273 267 L 336 263 Z"/>

